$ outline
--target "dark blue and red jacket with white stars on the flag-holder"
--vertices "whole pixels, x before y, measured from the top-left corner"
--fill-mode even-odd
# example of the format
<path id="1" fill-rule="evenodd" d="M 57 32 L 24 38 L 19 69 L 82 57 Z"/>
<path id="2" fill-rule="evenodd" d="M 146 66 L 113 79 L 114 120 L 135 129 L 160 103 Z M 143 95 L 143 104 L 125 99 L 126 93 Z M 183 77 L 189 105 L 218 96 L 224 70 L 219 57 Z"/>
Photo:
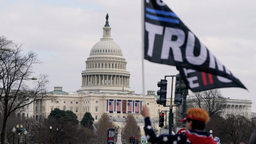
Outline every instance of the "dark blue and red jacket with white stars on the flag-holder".
<path id="1" fill-rule="evenodd" d="M 150 143 L 173 143 L 173 144 L 181 144 L 181 143 L 192 143 L 192 144 L 216 144 L 211 137 L 211 134 L 205 131 L 193 131 L 187 130 L 185 134 L 176 134 L 176 135 L 159 135 L 155 134 L 151 127 L 149 117 L 145 118 L 145 134 L 147 136 L 147 140 Z"/>

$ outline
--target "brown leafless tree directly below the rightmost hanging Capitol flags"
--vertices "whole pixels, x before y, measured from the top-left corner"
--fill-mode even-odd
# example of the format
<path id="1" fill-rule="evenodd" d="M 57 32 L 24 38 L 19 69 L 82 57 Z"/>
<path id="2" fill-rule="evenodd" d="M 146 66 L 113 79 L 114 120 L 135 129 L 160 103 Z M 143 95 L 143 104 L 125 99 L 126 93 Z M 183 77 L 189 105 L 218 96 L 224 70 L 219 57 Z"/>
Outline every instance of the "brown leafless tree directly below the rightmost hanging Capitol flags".
<path id="1" fill-rule="evenodd" d="M 138 138 L 140 140 L 141 132 L 134 116 L 128 115 L 126 118 L 126 124 L 122 131 L 122 138 L 125 141 L 129 141 L 129 136 L 131 135 L 135 136 L 135 138 Z"/>

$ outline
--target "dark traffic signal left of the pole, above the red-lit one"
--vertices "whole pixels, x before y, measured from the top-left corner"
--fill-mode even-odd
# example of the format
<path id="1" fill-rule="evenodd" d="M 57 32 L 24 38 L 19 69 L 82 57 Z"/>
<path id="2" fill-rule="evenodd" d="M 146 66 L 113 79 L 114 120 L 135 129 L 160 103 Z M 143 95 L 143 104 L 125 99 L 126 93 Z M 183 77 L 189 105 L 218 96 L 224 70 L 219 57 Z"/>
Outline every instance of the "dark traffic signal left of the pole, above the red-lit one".
<path id="1" fill-rule="evenodd" d="M 157 95 L 160 96 L 159 99 L 156 100 L 157 104 L 166 106 L 166 93 L 167 93 L 167 80 L 161 79 L 157 83 L 157 86 L 160 87 L 160 90 L 157 90 Z"/>

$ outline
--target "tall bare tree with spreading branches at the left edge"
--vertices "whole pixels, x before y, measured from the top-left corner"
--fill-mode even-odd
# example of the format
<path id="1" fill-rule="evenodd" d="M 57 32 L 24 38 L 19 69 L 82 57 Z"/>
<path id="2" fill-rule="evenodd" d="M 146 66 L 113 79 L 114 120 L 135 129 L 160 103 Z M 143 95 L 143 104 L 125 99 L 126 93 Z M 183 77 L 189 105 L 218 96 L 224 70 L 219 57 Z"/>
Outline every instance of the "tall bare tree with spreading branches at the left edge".
<path id="1" fill-rule="evenodd" d="M 24 54 L 22 45 L 0 36 L 0 47 L 4 46 L 12 47 L 12 51 L 0 51 L 0 106 L 3 110 L 1 143 L 4 143 L 6 122 L 13 112 L 35 100 L 50 98 L 46 95 L 46 85 L 49 83 L 46 75 L 40 74 L 33 88 L 25 83 L 26 79 L 31 79 L 33 65 L 40 63 L 38 55 L 33 51 Z"/>

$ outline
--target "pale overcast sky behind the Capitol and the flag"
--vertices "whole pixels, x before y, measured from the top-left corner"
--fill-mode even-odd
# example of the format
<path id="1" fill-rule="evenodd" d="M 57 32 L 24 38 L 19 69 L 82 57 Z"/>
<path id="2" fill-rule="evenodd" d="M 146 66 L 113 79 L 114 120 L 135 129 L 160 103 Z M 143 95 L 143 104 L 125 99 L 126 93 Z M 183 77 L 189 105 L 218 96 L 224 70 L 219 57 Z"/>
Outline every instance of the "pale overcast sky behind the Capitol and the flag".
<path id="1" fill-rule="evenodd" d="M 164 1 L 209 51 L 245 86 L 221 88 L 224 97 L 252 100 L 256 112 L 256 1 Z M 139 0 L 0 0 L 0 36 L 35 51 L 42 65 L 35 76 L 49 74 L 49 91 L 63 86 L 65 92 L 81 87 L 81 72 L 93 45 L 102 38 L 106 13 L 111 36 L 122 49 L 131 72 L 130 86 L 142 92 L 141 1 Z M 176 75 L 175 67 L 145 61 L 145 90 L 157 91 L 165 75 Z M 168 79 L 168 97 L 171 81 Z"/>

